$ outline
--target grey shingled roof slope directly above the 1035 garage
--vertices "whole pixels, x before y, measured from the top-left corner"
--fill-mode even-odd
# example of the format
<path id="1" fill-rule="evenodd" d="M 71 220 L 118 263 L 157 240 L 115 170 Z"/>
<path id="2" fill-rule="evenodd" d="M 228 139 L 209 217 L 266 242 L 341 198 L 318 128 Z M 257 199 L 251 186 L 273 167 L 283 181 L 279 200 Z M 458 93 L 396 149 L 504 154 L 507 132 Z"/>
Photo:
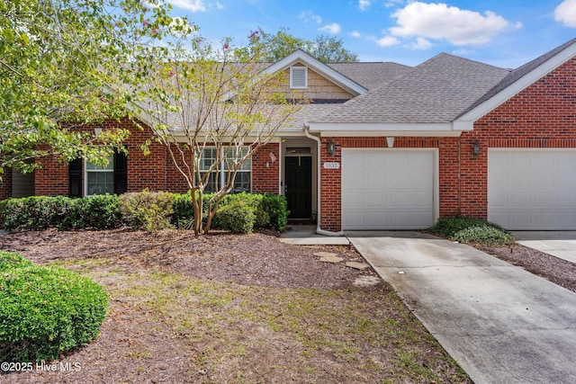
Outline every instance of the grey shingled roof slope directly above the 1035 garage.
<path id="1" fill-rule="evenodd" d="M 340 104 L 313 122 L 450 122 L 509 75 L 492 67 L 442 53 L 367 94 Z"/>

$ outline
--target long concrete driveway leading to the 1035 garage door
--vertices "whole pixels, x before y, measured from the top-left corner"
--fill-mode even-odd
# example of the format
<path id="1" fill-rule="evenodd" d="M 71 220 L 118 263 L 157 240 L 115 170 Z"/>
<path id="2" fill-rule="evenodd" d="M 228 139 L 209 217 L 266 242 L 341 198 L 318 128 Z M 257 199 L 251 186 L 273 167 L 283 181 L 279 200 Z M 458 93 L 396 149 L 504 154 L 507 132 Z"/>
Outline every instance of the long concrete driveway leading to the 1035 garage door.
<path id="1" fill-rule="evenodd" d="M 576 293 L 438 237 L 347 237 L 474 382 L 576 382 Z"/>

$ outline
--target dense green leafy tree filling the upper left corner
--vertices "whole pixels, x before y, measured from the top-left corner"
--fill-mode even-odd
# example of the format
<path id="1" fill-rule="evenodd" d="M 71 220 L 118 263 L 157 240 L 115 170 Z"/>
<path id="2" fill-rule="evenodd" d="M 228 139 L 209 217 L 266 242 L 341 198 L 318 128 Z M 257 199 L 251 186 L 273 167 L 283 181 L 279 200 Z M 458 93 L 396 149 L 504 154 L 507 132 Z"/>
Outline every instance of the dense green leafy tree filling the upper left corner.
<path id="1" fill-rule="evenodd" d="M 52 154 L 102 164 L 127 137 L 105 129 L 96 139 L 75 128 L 126 113 L 127 88 L 110 87 L 123 81 L 119 64 L 171 22 L 164 4 L 143 4 L 0 0 L 0 173 L 31 171 Z"/>

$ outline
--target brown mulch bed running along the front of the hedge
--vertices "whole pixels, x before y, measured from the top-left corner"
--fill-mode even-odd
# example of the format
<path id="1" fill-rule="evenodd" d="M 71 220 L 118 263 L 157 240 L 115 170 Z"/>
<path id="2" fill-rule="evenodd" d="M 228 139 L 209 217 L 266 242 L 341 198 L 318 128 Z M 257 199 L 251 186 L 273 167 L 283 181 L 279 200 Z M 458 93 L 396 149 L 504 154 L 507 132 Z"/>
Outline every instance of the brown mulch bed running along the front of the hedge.
<path id="1" fill-rule="evenodd" d="M 364 259 L 351 246 L 293 246 L 266 233 L 247 236 L 215 233 L 194 237 L 188 231 L 155 234 L 109 231 L 21 232 L 0 237 L 0 249 L 17 252 L 34 263 L 68 258 L 107 258 L 115 263 L 157 266 L 194 278 L 234 281 L 275 288 L 337 288 L 353 286 L 357 271 L 341 264 L 318 263 L 316 252 L 334 252 L 344 263 Z"/>

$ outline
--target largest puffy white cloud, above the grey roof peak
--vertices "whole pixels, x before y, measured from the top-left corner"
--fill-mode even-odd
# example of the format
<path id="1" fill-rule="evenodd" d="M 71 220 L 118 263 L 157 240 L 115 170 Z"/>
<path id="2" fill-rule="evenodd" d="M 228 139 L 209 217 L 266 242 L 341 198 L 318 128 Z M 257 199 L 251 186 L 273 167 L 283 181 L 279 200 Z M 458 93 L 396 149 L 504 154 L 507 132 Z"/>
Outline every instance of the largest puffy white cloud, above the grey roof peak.
<path id="1" fill-rule="evenodd" d="M 510 27 L 506 19 L 491 11 L 482 14 L 443 3 L 413 2 L 392 17 L 398 24 L 390 29 L 393 36 L 448 40 L 457 46 L 485 44 Z"/>

